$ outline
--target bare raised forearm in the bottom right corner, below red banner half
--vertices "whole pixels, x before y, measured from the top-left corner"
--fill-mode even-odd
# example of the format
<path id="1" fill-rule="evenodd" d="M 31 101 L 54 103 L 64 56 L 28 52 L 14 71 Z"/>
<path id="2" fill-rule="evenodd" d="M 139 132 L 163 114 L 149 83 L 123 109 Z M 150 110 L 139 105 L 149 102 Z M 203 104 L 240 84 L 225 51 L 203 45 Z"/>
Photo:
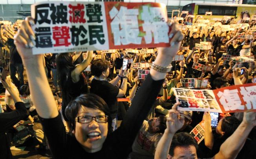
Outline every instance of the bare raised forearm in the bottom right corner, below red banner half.
<path id="1" fill-rule="evenodd" d="M 221 144 L 218 154 L 216 154 L 212 159 L 236 158 L 254 126 L 256 126 L 256 113 L 244 112 L 241 124 L 238 126 L 236 131 L 223 144 Z"/>

